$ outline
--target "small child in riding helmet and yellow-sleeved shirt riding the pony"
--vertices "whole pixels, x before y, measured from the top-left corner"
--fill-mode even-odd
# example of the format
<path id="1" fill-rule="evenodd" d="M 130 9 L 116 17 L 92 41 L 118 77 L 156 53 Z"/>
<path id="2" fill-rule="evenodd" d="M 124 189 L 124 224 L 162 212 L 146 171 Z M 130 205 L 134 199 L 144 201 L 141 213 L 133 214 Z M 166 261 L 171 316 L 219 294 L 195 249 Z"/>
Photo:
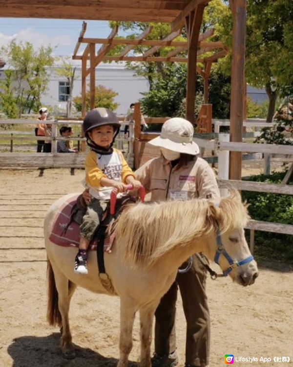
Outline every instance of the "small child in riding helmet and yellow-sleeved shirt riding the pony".
<path id="1" fill-rule="evenodd" d="M 87 274 L 86 250 L 100 225 L 112 189 L 115 187 L 122 193 L 126 192 L 126 184 L 132 184 L 134 189 L 141 187 L 122 153 L 112 147 L 120 129 L 116 115 L 108 109 L 95 108 L 86 114 L 83 129 L 91 148 L 85 159 L 85 185 L 93 199 L 80 227 L 81 240 L 74 266 L 77 274 Z"/>

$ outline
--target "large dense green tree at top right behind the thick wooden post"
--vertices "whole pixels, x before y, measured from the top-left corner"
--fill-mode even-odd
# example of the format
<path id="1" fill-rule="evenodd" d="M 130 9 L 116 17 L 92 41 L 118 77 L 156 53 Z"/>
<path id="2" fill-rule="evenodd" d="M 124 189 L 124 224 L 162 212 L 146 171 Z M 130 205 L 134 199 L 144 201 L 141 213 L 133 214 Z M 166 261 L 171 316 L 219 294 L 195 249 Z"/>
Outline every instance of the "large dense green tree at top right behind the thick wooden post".
<path id="1" fill-rule="evenodd" d="M 251 86 L 265 88 L 272 122 L 278 95 L 293 86 L 293 1 L 247 0 L 247 5 L 246 78 Z M 231 48 L 231 13 L 220 19 L 219 28 Z M 230 60 L 220 64 L 230 75 Z"/>

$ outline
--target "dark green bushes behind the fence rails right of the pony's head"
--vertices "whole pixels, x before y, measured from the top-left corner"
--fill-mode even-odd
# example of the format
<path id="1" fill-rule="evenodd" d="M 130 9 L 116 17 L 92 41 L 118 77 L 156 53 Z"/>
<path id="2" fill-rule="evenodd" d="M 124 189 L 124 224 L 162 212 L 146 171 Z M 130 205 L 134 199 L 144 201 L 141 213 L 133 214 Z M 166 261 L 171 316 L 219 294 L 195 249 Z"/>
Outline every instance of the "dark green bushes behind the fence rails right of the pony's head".
<path id="1" fill-rule="evenodd" d="M 272 175 L 251 176 L 247 180 L 280 184 L 285 172 L 276 172 Z M 288 184 L 293 184 L 293 178 Z M 243 200 L 250 204 L 249 213 L 254 220 L 283 224 L 293 223 L 293 196 L 252 191 L 242 191 Z M 290 235 L 256 231 L 255 240 L 257 252 L 270 260 L 272 256 L 284 260 L 293 260 L 293 237 Z"/>

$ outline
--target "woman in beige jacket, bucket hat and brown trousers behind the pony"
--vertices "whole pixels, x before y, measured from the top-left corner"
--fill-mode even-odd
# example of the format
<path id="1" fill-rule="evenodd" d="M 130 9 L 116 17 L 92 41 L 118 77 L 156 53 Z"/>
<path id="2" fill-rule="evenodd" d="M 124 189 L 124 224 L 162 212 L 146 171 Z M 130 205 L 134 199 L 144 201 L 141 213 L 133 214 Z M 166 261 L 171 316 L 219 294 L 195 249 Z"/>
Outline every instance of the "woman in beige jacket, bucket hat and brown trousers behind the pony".
<path id="1" fill-rule="evenodd" d="M 171 118 L 162 127 L 160 137 L 149 144 L 160 147 L 161 157 L 147 161 L 135 176 L 150 192 L 150 200 L 188 200 L 205 198 L 218 202 L 220 192 L 209 164 L 197 157 L 193 126 L 183 118 Z M 180 218 L 184 220 L 184 218 Z M 206 296 L 206 270 L 192 257 L 191 269 L 178 274 L 155 312 L 155 354 L 152 367 L 178 364 L 175 339 L 175 310 L 178 287 L 187 321 L 186 367 L 209 365 L 210 320 Z M 183 268 L 187 264 L 183 264 Z"/>

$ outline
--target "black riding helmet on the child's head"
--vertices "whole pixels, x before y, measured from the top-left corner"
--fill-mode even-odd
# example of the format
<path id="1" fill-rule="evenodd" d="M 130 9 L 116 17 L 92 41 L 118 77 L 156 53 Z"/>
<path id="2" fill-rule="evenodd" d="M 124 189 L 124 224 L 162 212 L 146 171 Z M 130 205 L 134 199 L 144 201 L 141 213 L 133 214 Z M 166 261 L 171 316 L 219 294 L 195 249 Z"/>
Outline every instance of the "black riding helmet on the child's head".
<path id="1" fill-rule="evenodd" d="M 88 137 L 88 132 L 93 128 L 102 125 L 112 125 L 114 130 L 120 129 L 120 122 L 114 112 L 107 108 L 98 107 L 90 110 L 84 117 L 84 135 Z"/>

